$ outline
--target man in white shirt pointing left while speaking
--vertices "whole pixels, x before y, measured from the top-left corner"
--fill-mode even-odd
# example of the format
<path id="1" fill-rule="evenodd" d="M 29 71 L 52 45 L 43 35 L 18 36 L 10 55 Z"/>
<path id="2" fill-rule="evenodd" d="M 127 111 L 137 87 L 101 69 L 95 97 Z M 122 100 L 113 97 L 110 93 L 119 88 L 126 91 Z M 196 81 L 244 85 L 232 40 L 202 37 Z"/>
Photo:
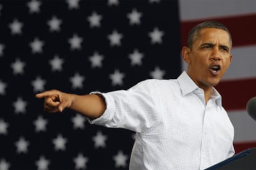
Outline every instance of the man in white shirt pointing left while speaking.
<path id="1" fill-rule="evenodd" d="M 130 169 L 205 169 L 234 154 L 234 127 L 214 88 L 231 63 L 231 46 L 224 25 L 203 22 L 182 47 L 188 70 L 177 79 L 148 79 L 105 94 L 52 90 L 36 97 L 45 97 L 48 112 L 70 108 L 91 123 L 137 132 Z"/>

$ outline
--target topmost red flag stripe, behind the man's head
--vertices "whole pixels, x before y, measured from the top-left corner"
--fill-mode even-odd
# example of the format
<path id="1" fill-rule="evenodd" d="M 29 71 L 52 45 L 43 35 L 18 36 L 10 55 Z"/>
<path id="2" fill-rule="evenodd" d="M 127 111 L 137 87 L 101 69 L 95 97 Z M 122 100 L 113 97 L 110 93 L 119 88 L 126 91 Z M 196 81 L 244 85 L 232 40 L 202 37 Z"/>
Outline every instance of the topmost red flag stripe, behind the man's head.
<path id="1" fill-rule="evenodd" d="M 207 20 L 217 20 L 223 23 L 231 32 L 233 46 L 245 46 L 256 44 L 256 14 L 237 15 L 226 18 L 207 18 Z M 186 45 L 187 34 L 190 28 L 205 20 L 193 20 L 181 22 L 181 42 L 182 46 Z"/>

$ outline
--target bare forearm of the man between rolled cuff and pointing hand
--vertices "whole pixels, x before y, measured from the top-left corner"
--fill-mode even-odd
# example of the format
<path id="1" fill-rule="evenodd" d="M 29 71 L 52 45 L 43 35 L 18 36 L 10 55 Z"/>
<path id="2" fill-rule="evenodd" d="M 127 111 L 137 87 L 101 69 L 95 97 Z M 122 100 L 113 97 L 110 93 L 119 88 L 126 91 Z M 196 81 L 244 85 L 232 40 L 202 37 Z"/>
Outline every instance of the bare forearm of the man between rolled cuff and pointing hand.
<path id="1" fill-rule="evenodd" d="M 103 115 L 106 110 L 106 103 L 103 97 L 96 94 L 75 95 L 70 94 L 72 103 L 70 109 L 87 116 L 90 119 L 96 119 Z"/>

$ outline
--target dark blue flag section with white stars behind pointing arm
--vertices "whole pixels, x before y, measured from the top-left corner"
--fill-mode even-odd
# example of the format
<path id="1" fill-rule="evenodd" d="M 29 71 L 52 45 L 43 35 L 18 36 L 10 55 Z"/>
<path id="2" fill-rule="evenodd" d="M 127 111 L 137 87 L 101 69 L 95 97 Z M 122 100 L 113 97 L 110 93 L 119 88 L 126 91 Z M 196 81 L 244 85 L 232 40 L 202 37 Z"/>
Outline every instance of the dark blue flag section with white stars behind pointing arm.
<path id="1" fill-rule="evenodd" d="M 0 1 L 0 170 L 128 169 L 134 132 L 43 111 L 35 94 L 181 73 L 177 1 Z"/>

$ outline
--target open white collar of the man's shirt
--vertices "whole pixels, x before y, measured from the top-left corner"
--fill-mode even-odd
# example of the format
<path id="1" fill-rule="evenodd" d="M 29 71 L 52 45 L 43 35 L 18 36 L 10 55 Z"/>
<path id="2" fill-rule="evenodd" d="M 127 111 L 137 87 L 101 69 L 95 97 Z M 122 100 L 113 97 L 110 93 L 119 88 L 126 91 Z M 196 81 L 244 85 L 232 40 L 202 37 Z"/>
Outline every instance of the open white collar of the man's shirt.
<path id="1" fill-rule="evenodd" d="M 182 74 L 177 78 L 177 81 L 181 86 L 183 96 L 200 89 L 197 84 L 195 84 L 195 82 L 189 77 L 189 75 L 187 75 L 186 71 L 182 72 Z M 210 98 L 215 100 L 217 105 L 221 107 L 221 95 L 214 87 L 211 91 Z"/>

